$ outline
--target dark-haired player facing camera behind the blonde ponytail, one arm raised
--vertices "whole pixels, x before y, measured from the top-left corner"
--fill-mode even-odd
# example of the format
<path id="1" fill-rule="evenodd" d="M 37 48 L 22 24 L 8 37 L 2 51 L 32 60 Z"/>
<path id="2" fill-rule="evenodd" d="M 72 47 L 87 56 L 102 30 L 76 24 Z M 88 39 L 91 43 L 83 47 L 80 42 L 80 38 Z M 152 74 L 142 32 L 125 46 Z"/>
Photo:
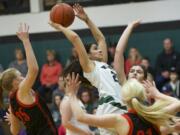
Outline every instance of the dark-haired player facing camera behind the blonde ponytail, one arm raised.
<path id="1" fill-rule="evenodd" d="M 124 54 L 128 39 L 129 39 L 133 29 L 136 28 L 139 24 L 140 24 L 140 20 L 131 22 L 127 26 L 127 28 L 124 30 L 122 36 L 120 37 L 118 45 L 116 47 L 115 58 L 114 58 L 114 68 L 117 71 L 117 75 L 118 75 L 120 84 L 124 84 L 127 81 L 125 72 L 124 72 L 124 56 L 123 56 L 123 54 Z M 134 65 L 131 67 L 130 72 L 128 73 L 128 79 L 131 79 L 131 78 L 135 78 L 141 83 L 146 83 L 144 80 L 147 79 L 147 70 L 141 65 Z M 149 85 L 150 84 L 151 83 L 149 82 Z M 154 87 L 154 89 L 155 89 L 155 87 Z M 169 112 L 171 112 L 172 114 L 176 114 L 178 111 L 180 111 L 179 104 L 176 104 L 178 102 L 175 98 L 168 97 L 164 94 L 159 94 L 159 95 L 160 96 L 158 96 L 158 99 L 156 98 L 155 95 L 148 96 L 148 98 L 155 99 L 155 101 L 159 100 L 159 99 L 170 100 L 170 101 L 172 101 L 172 104 L 171 104 L 171 106 L 168 106 Z M 171 131 L 172 131 L 172 130 L 170 130 L 170 127 L 163 127 L 163 129 L 166 129 L 166 133 L 167 133 L 167 131 L 169 131 L 169 133 L 171 133 Z"/>

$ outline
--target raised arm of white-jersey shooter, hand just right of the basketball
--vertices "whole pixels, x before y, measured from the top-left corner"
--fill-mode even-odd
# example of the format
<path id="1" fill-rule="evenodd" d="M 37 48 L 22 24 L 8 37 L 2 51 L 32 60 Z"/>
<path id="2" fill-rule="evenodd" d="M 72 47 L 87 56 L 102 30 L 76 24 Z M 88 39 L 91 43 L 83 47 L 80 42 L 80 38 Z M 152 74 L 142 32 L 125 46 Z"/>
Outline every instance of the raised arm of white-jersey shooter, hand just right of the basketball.
<path id="1" fill-rule="evenodd" d="M 75 4 L 73 6 L 76 16 L 84 21 L 88 27 L 90 28 L 93 37 L 95 38 L 99 48 L 103 52 L 103 61 L 107 63 L 108 55 L 107 55 L 107 44 L 104 35 L 102 32 L 99 30 L 99 28 L 92 22 L 92 20 L 88 17 L 86 12 L 84 11 L 83 7 L 80 6 L 79 4 Z"/>

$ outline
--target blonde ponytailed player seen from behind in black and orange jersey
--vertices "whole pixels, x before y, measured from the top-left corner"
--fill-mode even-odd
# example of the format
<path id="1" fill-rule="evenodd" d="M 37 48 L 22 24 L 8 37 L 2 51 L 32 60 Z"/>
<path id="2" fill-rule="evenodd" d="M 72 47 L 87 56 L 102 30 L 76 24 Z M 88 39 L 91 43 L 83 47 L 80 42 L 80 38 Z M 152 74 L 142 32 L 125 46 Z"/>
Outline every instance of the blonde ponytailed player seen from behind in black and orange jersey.
<path id="1" fill-rule="evenodd" d="M 159 127 L 169 126 L 170 119 L 175 118 L 166 108 L 172 103 L 169 100 L 158 100 L 153 105 L 146 105 L 145 89 L 136 79 L 128 80 L 121 89 L 122 99 L 128 106 L 128 113 L 101 116 L 86 114 L 82 111 L 75 96 L 80 84 L 78 75 L 68 75 L 68 78 L 67 87 L 72 110 L 75 117 L 83 123 L 111 128 L 119 135 L 160 135 Z M 180 102 L 178 104 L 180 105 Z"/>

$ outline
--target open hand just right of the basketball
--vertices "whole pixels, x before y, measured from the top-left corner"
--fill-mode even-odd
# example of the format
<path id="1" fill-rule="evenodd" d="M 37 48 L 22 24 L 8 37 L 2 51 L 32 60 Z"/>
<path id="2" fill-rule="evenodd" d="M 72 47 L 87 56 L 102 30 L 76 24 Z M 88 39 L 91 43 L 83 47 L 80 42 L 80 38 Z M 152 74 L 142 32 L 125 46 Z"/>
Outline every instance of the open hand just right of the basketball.
<path id="1" fill-rule="evenodd" d="M 75 4 L 75 5 L 73 6 L 73 9 L 74 9 L 74 11 L 75 11 L 76 16 L 77 16 L 79 19 L 81 19 L 81 20 L 83 20 L 83 21 L 85 21 L 85 22 L 87 21 L 88 16 L 87 16 L 87 14 L 86 14 L 86 12 L 84 11 L 84 9 L 83 9 L 82 6 L 80 6 L 79 4 Z"/>

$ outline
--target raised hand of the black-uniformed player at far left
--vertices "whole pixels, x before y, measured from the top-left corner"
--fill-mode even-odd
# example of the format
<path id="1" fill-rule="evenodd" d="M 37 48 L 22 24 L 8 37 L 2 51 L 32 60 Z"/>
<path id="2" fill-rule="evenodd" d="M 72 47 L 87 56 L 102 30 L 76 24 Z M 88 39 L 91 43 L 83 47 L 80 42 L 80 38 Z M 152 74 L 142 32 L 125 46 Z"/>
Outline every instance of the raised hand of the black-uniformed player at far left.
<path id="1" fill-rule="evenodd" d="M 16 34 L 21 41 L 29 40 L 29 26 L 26 23 L 20 23 Z"/>

